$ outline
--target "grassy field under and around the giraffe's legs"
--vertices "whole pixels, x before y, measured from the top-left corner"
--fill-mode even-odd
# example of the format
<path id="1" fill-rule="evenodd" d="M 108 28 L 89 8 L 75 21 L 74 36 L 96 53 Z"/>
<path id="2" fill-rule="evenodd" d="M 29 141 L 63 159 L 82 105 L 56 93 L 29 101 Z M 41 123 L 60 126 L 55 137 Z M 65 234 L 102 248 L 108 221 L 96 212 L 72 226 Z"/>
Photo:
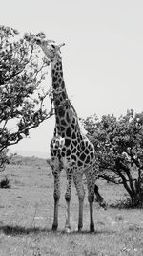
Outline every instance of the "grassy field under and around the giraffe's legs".
<path id="1" fill-rule="evenodd" d="M 0 190 L 0 256 L 115 256 L 143 255 L 142 210 L 104 211 L 94 203 L 95 232 L 89 232 L 89 205 L 84 205 L 84 228 L 76 231 L 78 201 L 72 188 L 72 232 L 64 232 L 65 184 L 61 178 L 59 227 L 51 232 L 53 179 L 45 160 L 17 157 L 7 166 L 10 189 Z M 4 175 L 4 174 L 1 174 Z M 111 204 L 125 198 L 121 186 L 98 181 L 100 192 Z M 86 186 L 85 186 L 86 188 Z M 87 195 L 87 193 L 86 193 Z"/>

